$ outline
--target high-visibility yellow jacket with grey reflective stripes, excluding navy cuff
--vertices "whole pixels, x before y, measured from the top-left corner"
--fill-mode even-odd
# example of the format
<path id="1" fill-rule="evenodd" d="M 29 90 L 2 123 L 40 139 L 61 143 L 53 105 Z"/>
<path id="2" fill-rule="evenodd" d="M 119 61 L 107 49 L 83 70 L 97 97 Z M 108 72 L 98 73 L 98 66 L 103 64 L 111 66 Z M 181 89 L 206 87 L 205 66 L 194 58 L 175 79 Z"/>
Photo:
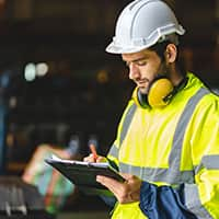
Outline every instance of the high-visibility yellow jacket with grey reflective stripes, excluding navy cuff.
<path id="1" fill-rule="evenodd" d="M 107 158 L 119 172 L 157 186 L 183 184 L 188 211 L 219 218 L 219 97 L 193 73 L 187 78 L 163 108 L 142 108 L 131 99 Z M 112 218 L 147 216 L 132 203 L 116 204 Z"/>

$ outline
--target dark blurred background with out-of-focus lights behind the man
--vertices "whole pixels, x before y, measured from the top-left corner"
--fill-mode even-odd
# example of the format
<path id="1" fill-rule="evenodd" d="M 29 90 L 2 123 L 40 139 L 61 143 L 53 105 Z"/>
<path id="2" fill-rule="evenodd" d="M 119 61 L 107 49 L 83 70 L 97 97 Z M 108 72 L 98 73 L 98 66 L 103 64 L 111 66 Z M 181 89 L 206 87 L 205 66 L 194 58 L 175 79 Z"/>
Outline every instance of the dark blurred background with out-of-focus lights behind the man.
<path id="1" fill-rule="evenodd" d="M 168 1 L 168 0 L 166 0 Z M 43 142 L 105 154 L 134 84 L 105 46 L 127 0 L 0 0 L 0 170 L 21 174 Z M 219 88 L 219 0 L 169 0 L 188 70 Z"/>

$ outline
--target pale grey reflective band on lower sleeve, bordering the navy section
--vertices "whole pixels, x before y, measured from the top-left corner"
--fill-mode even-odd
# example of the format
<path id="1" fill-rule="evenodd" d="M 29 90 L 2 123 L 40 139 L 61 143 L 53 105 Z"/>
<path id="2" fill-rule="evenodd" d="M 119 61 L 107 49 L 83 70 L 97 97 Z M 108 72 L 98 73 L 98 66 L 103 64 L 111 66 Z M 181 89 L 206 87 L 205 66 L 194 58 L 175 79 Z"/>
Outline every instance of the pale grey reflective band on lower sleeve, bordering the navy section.
<path id="1" fill-rule="evenodd" d="M 201 205 L 198 188 L 195 184 L 185 184 L 185 205 L 198 219 L 212 219 Z"/>

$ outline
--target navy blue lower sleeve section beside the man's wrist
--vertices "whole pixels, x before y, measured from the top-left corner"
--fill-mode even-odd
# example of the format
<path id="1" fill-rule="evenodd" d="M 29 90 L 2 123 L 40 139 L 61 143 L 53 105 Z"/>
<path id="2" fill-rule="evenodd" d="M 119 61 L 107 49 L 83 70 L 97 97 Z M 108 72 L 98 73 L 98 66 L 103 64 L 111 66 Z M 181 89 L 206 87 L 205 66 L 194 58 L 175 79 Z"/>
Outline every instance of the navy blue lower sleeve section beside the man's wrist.
<path id="1" fill-rule="evenodd" d="M 140 208 L 149 219 L 196 219 L 185 207 L 183 189 L 184 185 L 174 189 L 171 186 L 157 186 L 142 182 Z"/>

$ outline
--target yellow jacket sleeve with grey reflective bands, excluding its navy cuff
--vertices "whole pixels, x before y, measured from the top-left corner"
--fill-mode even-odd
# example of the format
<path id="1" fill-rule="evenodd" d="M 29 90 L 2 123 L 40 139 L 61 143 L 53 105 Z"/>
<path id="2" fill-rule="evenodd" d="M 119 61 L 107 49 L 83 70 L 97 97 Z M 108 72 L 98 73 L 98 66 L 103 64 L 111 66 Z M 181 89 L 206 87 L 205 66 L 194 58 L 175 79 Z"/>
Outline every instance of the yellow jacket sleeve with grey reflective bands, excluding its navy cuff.
<path id="1" fill-rule="evenodd" d="M 219 218 L 219 99 L 204 97 L 191 124 L 195 178 L 184 185 L 185 205 L 197 218 Z"/>

